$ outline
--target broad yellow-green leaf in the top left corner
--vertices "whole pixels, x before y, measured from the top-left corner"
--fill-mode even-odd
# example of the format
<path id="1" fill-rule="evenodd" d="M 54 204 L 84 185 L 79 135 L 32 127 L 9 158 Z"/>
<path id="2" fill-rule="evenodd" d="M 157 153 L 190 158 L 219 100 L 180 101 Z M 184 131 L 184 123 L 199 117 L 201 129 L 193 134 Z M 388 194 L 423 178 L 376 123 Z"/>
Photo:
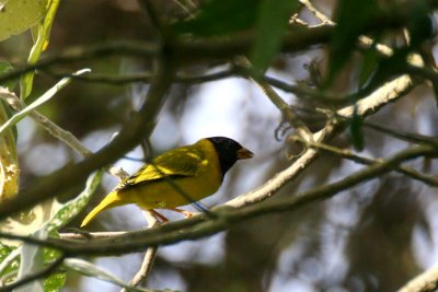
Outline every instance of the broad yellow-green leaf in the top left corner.
<path id="1" fill-rule="evenodd" d="M 0 2 L 0 40 L 21 34 L 46 13 L 48 0 L 9 0 Z"/>

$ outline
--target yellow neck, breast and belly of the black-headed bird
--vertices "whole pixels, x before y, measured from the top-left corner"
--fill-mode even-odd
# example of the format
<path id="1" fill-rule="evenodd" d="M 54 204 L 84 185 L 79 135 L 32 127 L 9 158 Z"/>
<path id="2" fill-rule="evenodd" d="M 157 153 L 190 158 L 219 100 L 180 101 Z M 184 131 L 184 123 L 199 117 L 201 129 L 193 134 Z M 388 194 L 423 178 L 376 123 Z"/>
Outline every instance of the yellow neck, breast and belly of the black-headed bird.
<path id="1" fill-rule="evenodd" d="M 169 176 L 157 180 L 138 184 L 135 187 L 117 190 L 118 197 L 125 203 L 136 203 L 142 209 L 176 208 L 200 200 L 215 194 L 222 183 L 219 159 L 214 145 L 208 140 L 201 140 L 191 148 L 181 149 L 189 161 L 196 161 L 196 172 L 189 176 Z M 184 159 L 181 159 L 184 160 Z M 176 167 L 184 167 L 185 161 L 174 161 Z M 178 165 L 180 163 L 180 165 Z M 149 167 L 161 168 L 151 165 Z M 172 165 L 163 168 L 172 173 Z M 147 170 L 146 170 L 147 171 Z"/>

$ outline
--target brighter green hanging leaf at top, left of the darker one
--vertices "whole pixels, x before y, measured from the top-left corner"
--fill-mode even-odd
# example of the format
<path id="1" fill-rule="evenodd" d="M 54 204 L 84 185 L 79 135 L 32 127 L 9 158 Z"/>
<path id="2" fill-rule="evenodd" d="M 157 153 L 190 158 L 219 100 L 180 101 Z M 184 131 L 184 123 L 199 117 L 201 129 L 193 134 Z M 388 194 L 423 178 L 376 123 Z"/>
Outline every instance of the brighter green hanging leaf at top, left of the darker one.
<path id="1" fill-rule="evenodd" d="M 299 8 L 298 0 L 262 2 L 256 22 L 255 46 L 250 58 L 256 74 L 263 74 L 279 51 L 289 19 Z"/>

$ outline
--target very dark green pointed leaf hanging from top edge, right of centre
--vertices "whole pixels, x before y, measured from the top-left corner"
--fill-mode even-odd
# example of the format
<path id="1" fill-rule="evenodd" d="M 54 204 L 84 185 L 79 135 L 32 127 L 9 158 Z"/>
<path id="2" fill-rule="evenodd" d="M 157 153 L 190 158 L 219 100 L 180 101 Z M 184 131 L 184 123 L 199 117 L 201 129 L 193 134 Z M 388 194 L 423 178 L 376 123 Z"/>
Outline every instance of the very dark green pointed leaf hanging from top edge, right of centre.
<path id="1" fill-rule="evenodd" d="M 330 43 L 328 72 L 324 85 L 330 85 L 349 60 L 357 39 L 372 21 L 379 7 L 376 0 L 339 0 L 336 26 Z"/>

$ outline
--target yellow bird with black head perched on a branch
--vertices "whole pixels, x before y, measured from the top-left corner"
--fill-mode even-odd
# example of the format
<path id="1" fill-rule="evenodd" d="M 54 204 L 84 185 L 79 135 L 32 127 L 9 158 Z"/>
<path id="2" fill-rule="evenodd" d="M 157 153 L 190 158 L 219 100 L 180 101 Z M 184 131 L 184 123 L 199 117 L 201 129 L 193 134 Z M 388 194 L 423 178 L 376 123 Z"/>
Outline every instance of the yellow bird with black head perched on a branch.
<path id="1" fill-rule="evenodd" d="M 129 203 L 153 212 L 162 221 L 168 220 L 154 209 L 169 209 L 191 217 L 189 211 L 176 207 L 215 194 L 235 162 L 253 155 L 227 137 L 204 138 L 194 144 L 164 152 L 122 180 L 83 219 L 81 227 L 102 211 Z"/>

